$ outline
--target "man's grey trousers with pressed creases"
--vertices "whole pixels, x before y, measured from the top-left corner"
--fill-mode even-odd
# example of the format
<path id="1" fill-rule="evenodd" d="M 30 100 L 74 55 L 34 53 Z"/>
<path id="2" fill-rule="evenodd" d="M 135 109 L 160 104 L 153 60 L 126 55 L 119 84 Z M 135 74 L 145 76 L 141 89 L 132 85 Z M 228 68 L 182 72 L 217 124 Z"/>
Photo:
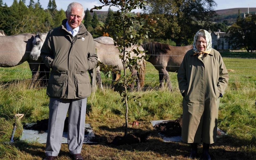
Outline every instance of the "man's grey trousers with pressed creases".
<path id="1" fill-rule="evenodd" d="M 49 124 L 45 149 L 46 156 L 58 156 L 59 154 L 67 111 L 69 111 L 69 126 L 67 137 L 69 153 L 81 153 L 85 136 L 86 102 L 87 98 L 50 98 Z"/>

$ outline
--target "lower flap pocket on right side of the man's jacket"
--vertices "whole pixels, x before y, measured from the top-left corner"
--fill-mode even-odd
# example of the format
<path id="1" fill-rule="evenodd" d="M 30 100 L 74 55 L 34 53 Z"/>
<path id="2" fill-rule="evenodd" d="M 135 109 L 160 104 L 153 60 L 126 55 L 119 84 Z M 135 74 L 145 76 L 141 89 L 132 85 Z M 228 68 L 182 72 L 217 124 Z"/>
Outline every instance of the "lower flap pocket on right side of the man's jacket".
<path id="1" fill-rule="evenodd" d="M 76 95 L 79 98 L 88 97 L 91 94 L 91 83 L 88 73 L 76 74 L 77 90 Z"/>

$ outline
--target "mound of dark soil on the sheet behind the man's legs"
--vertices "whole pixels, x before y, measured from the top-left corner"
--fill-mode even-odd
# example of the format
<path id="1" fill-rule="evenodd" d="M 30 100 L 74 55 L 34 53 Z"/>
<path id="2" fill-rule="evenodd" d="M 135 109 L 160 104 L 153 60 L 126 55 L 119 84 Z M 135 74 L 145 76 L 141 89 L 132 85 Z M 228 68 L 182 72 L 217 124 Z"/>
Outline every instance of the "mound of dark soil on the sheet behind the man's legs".
<path id="1" fill-rule="evenodd" d="M 48 130 L 48 122 L 49 119 L 42 119 L 42 120 L 37 120 L 36 124 L 32 125 L 31 127 L 24 126 L 25 129 L 30 129 L 30 130 L 38 130 L 38 133 L 45 133 L 46 130 Z M 69 124 L 69 117 L 66 117 L 64 121 L 64 130 L 63 132 L 68 131 L 68 124 Z M 85 134 L 88 134 L 89 132 L 85 129 Z"/>

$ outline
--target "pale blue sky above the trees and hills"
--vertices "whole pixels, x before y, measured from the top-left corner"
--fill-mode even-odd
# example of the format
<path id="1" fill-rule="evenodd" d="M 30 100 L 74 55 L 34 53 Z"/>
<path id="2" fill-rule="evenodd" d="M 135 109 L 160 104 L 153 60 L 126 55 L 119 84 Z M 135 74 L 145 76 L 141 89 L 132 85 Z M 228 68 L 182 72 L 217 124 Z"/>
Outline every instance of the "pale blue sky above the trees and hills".
<path id="1" fill-rule="evenodd" d="M 19 0 L 17 0 L 19 1 Z M 26 5 L 29 4 L 30 0 L 26 0 Z M 39 0 L 42 7 L 44 9 L 47 8 L 49 0 Z M 159 0 L 161 1 L 161 0 Z M 34 2 L 37 2 L 37 0 L 34 0 Z M 63 9 L 64 11 L 67 9 L 67 6 L 69 3 L 73 2 L 73 0 L 55 0 L 57 9 Z M 76 0 L 76 2 L 81 3 L 83 7 L 88 8 L 89 10 L 93 8 L 94 6 L 100 6 L 102 5 L 101 2 L 98 0 Z M 230 9 L 230 8 L 247 8 L 249 7 L 256 7 L 256 0 L 215 0 L 217 3 L 217 7 L 214 8 L 214 10 L 221 10 L 221 9 Z M 13 0 L 3 0 L 3 3 L 6 3 L 8 6 L 12 5 Z M 117 8 L 113 7 L 111 8 L 113 11 L 117 11 Z M 107 11 L 108 7 L 103 7 L 101 11 Z M 132 10 L 132 12 L 139 12 L 140 9 Z"/>

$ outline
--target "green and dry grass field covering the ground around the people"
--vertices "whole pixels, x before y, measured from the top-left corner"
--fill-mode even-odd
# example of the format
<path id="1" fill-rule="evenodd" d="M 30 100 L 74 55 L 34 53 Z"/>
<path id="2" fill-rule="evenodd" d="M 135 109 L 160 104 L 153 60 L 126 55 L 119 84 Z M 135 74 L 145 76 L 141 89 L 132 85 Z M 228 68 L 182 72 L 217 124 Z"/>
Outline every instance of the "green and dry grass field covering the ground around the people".
<path id="1" fill-rule="evenodd" d="M 210 147 L 213 159 L 256 159 L 256 53 L 221 53 L 229 70 L 229 85 L 219 106 L 218 127 L 228 135 L 218 138 Z M 225 58 L 231 57 L 231 58 Z M 183 142 L 163 142 L 153 130 L 150 120 L 176 119 L 182 114 L 182 96 L 178 90 L 177 73 L 169 73 L 173 91 L 158 89 L 158 71 L 147 62 L 145 89 L 130 92 L 141 96 L 141 106 L 129 103 L 129 133 L 149 133 L 143 143 L 115 146 L 108 143 L 115 136 L 123 135 L 125 108 L 121 97 L 109 88 L 110 82 L 103 78 L 105 89 L 88 98 L 86 123 L 90 123 L 98 144 L 83 145 L 85 159 L 188 159 L 190 148 Z M 43 159 L 44 144 L 16 141 L 9 145 L 14 114 L 24 113 L 23 123 L 48 118 L 49 98 L 46 88 L 30 89 L 31 71 L 28 64 L 0 68 L 0 159 Z M 132 128 L 137 120 L 139 125 Z M 22 125 L 16 130 L 18 139 Z M 199 146 L 199 154 L 202 145 Z M 58 159 L 70 159 L 66 144 L 62 144 Z"/>

